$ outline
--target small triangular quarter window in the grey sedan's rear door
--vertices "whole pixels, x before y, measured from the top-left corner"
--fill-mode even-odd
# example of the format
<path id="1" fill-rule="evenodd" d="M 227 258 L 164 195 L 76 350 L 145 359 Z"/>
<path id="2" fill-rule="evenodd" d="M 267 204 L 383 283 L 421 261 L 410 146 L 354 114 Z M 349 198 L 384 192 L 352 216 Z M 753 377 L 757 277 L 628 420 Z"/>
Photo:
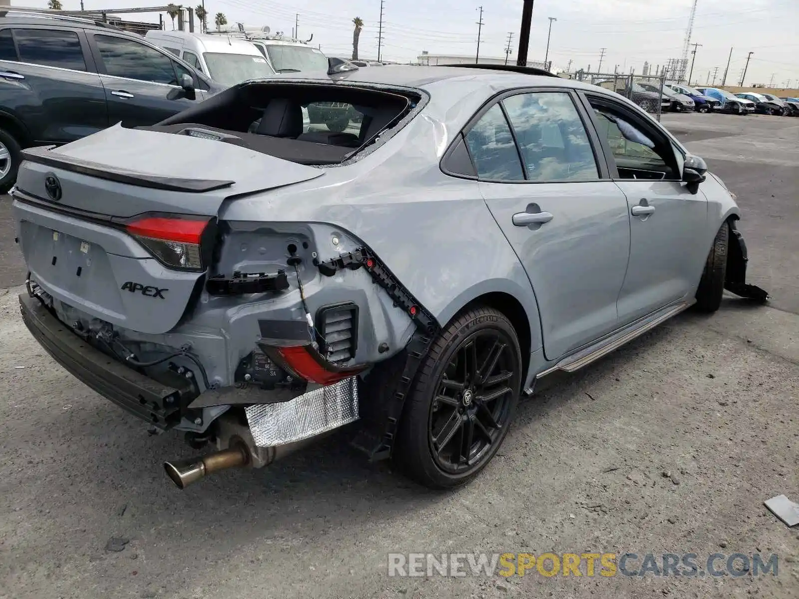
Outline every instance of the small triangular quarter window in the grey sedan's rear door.
<path id="1" fill-rule="evenodd" d="M 480 179 L 524 180 L 519 152 L 499 104 L 466 134 L 466 144 Z"/>

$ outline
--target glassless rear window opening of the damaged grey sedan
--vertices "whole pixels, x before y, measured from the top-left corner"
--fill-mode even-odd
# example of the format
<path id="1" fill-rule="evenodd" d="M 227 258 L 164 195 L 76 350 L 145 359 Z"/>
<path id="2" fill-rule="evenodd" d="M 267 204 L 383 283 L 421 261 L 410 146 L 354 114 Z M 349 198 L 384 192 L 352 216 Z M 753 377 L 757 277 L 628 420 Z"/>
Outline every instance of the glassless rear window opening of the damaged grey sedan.
<path id="1" fill-rule="evenodd" d="M 139 129 L 240 145 L 300 165 L 338 165 L 384 137 L 421 99 L 408 90 L 247 82 Z"/>

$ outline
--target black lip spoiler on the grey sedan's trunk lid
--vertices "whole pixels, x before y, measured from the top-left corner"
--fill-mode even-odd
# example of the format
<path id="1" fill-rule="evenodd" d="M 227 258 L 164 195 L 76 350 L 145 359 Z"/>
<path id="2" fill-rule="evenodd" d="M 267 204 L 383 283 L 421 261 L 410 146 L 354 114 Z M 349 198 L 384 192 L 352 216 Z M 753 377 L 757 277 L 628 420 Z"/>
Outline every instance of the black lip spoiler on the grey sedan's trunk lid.
<path id="1" fill-rule="evenodd" d="M 28 148 L 22 150 L 22 158 L 26 161 L 35 162 L 39 165 L 51 166 L 54 169 L 63 169 L 73 173 L 97 177 L 147 187 L 151 189 L 162 189 L 170 192 L 212 192 L 215 189 L 230 187 L 236 181 L 212 180 L 212 179 L 184 179 L 181 177 L 161 177 L 159 175 L 148 175 L 147 173 L 137 173 L 126 169 L 98 165 L 96 162 L 89 162 L 56 153 L 52 150 L 58 146 L 45 145 L 38 148 Z"/>

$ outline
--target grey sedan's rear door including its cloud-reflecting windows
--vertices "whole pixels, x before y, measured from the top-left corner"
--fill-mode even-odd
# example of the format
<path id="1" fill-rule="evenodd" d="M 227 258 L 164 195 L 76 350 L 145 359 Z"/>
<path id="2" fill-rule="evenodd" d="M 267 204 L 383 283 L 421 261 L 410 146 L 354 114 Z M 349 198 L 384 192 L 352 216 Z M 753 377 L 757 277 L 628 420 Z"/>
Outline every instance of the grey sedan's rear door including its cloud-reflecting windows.
<path id="1" fill-rule="evenodd" d="M 602 178 L 574 99 L 513 93 L 466 133 L 483 197 L 531 281 L 547 359 L 617 326 L 630 248 L 624 194 Z"/>

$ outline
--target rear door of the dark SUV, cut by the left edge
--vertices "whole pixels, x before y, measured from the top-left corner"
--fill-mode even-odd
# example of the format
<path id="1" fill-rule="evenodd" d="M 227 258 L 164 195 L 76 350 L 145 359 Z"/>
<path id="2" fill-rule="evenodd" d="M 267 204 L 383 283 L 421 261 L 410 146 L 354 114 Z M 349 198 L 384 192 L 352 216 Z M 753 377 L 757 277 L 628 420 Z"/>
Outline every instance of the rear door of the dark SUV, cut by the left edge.
<path id="1" fill-rule="evenodd" d="M 0 105 L 34 143 L 61 144 L 105 129 L 105 91 L 83 30 L 0 30 Z"/>

